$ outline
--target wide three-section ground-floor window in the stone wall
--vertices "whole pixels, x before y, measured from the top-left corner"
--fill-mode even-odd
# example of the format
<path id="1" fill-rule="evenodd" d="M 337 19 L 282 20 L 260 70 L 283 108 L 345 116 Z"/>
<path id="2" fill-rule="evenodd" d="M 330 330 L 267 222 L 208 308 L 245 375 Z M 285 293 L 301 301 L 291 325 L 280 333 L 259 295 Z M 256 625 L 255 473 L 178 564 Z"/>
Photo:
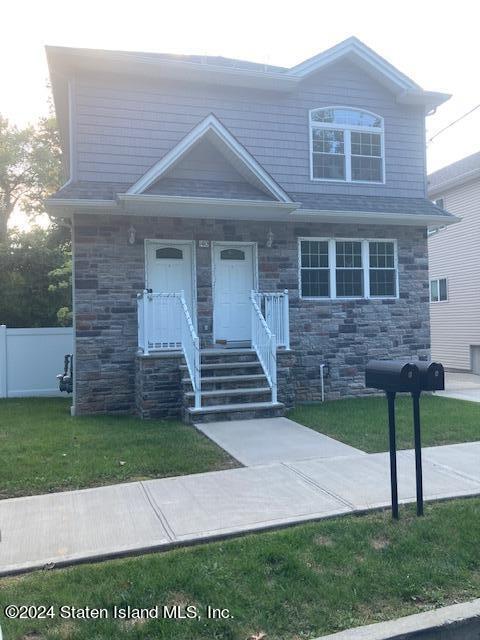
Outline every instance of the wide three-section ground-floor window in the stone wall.
<path id="1" fill-rule="evenodd" d="M 397 253 L 393 240 L 299 240 L 302 298 L 395 298 Z"/>

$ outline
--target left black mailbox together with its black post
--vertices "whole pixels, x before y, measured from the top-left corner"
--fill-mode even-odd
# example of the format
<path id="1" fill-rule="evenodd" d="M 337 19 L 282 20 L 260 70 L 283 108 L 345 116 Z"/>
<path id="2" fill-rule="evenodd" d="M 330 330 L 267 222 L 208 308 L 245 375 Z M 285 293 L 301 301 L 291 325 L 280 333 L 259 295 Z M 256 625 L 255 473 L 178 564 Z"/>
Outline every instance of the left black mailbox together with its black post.
<path id="1" fill-rule="evenodd" d="M 397 442 L 395 433 L 395 396 L 412 392 L 419 385 L 420 372 L 411 362 L 370 360 L 365 369 L 365 385 L 385 391 L 388 402 L 388 439 L 390 449 L 390 488 L 392 518 L 398 520 Z"/>

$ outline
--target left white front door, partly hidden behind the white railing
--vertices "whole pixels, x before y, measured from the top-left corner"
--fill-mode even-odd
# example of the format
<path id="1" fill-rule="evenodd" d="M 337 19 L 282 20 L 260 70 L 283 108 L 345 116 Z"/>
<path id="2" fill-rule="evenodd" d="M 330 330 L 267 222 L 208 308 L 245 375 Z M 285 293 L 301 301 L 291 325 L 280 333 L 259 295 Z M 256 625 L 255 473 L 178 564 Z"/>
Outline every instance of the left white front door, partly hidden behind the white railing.
<path id="1" fill-rule="evenodd" d="M 146 284 L 153 293 L 184 291 L 190 316 L 195 325 L 193 288 L 193 247 L 190 242 L 146 242 Z M 168 298 L 157 301 L 151 318 L 152 330 L 158 336 L 158 347 L 181 344 L 178 307 Z"/>

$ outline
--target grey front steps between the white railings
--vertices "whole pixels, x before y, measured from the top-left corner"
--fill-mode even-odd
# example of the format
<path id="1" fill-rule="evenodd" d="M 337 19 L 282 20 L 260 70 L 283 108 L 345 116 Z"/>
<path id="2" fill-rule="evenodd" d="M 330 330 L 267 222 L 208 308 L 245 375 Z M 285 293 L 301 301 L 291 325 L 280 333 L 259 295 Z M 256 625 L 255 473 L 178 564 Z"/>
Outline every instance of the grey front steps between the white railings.
<path id="1" fill-rule="evenodd" d="M 204 349 L 201 352 L 202 406 L 195 408 L 186 366 L 183 419 L 188 423 L 249 420 L 284 415 L 283 402 L 272 402 L 267 378 L 253 349 Z"/>

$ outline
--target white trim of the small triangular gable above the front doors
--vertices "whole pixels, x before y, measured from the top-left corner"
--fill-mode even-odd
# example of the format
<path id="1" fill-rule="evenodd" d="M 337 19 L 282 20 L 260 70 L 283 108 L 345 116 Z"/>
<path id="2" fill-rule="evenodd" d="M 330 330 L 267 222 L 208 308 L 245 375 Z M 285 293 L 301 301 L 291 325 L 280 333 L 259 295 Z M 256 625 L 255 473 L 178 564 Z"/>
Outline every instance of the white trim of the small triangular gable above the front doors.
<path id="1" fill-rule="evenodd" d="M 173 149 L 153 165 L 140 180 L 130 187 L 127 195 L 139 195 L 143 193 L 148 187 L 161 178 L 168 169 L 179 162 L 200 138 L 209 132 L 213 132 L 218 137 L 222 144 L 242 162 L 248 172 L 252 174 L 275 199 L 280 202 L 292 202 L 288 194 L 213 114 L 210 114 L 199 122 Z"/>

